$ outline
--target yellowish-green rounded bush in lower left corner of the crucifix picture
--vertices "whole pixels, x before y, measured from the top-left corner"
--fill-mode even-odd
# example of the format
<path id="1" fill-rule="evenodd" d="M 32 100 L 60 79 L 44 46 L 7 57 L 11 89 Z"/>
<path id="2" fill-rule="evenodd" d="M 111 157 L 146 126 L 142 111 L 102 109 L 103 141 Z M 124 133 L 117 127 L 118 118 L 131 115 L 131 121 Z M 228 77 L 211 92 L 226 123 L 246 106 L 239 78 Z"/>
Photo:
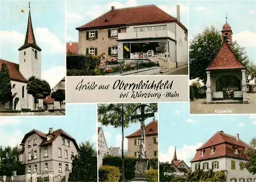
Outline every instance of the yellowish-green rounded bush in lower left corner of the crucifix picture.
<path id="1" fill-rule="evenodd" d="M 117 182 L 120 179 L 119 168 L 115 166 L 101 166 L 99 168 L 99 181 Z"/>

